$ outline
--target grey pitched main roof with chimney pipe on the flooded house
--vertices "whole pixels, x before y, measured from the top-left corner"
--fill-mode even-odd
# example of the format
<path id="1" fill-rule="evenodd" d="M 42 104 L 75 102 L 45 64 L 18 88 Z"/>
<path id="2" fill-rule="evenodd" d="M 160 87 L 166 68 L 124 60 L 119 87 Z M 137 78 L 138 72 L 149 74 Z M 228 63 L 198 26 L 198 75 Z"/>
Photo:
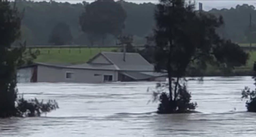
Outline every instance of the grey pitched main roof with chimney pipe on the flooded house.
<path id="1" fill-rule="evenodd" d="M 115 65 L 117 67 L 116 70 L 154 71 L 154 66 L 138 53 L 126 53 L 124 61 L 123 52 L 101 52 L 88 63 L 93 64 L 91 62 L 100 55 Z"/>

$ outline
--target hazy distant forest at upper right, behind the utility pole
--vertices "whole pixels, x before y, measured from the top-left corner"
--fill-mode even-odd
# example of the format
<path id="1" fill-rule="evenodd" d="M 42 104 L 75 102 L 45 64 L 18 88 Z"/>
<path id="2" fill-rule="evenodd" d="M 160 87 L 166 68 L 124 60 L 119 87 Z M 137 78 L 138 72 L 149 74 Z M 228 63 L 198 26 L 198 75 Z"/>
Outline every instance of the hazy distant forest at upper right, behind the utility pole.
<path id="1" fill-rule="evenodd" d="M 252 32 L 255 32 L 255 20 L 256 20 L 256 10 L 253 5 L 243 4 L 237 5 L 230 9 L 223 8 L 221 10 L 212 9 L 209 13 L 215 16 L 223 16 L 225 25 L 220 27 L 217 32 L 218 34 L 225 38 L 231 39 L 233 42 L 238 43 L 249 43 L 249 14 L 252 15 Z M 256 33 L 252 33 L 252 37 L 255 37 Z M 256 42 L 255 38 L 251 39 L 252 42 Z"/>

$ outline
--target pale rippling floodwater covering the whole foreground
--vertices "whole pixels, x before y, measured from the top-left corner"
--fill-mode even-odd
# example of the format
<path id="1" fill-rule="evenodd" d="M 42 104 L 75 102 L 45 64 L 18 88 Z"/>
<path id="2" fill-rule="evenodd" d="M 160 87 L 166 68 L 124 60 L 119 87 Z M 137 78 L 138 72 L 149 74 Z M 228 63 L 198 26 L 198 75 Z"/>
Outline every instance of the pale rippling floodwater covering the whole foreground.
<path id="1" fill-rule="evenodd" d="M 0 119 L 0 137 L 255 136 L 256 113 L 241 101 L 251 77 L 205 77 L 189 81 L 196 114 L 154 113 L 147 87 L 155 82 L 19 83 L 24 97 L 55 99 L 59 109 L 42 117 Z M 210 80 L 212 79 L 212 80 Z"/>

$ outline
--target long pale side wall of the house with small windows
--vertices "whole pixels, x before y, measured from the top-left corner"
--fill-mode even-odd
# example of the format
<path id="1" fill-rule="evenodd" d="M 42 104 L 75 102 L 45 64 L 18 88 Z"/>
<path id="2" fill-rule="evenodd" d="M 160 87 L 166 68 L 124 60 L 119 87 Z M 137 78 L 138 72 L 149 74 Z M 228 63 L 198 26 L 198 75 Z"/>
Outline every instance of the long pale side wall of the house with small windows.
<path id="1" fill-rule="evenodd" d="M 67 79 L 66 72 L 72 72 L 73 78 Z M 94 74 L 100 74 L 100 76 L 94 76 Z M 101 83 L 104 74 L 113 75 L 113 81 L 118 79 L 118 73 L 110 70 L 69 69 L 38 65 L 37 82 Z"/>

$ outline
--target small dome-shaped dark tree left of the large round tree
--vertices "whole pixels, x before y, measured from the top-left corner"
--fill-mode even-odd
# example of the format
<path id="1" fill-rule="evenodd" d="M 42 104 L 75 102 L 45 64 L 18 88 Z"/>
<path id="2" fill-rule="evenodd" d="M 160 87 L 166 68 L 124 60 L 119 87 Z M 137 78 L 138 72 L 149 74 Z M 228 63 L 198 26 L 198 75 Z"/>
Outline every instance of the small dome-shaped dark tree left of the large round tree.
<path id="1" fill-rule="evenodd" d="M 70 45 L 72 43 L 73 37 L 66 23 L 58 23 L 51 30 L 49 36 L 49 43 L 54 45 Z"/>

